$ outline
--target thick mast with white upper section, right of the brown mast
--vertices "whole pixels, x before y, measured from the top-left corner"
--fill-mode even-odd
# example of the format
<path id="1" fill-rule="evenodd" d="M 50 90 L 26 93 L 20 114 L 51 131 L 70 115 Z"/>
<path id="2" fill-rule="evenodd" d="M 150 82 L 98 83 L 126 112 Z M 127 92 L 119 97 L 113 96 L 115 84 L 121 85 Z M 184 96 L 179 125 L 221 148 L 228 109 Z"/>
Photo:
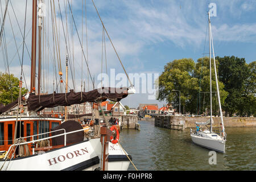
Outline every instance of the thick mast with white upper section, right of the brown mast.
<path id="1" fill-rule="evenodd" d="M 42 62 L 42 0 L 39 0 L 38 6 L 38 95 L 41 88 L 41 62 Z"/>

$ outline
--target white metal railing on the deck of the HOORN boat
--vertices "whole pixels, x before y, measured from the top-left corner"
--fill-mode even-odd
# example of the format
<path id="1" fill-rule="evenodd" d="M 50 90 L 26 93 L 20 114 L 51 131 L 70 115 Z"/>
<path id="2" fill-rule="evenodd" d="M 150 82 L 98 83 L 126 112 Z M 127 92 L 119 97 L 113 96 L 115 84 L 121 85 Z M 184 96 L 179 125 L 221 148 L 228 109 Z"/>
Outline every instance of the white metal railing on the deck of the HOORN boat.
<path id="1" fill-rule="evenodd" d="M 90 129 L 90 128 L 81 129 L 81 130 L 76 130 L 76 131 L 70 131 L 70 132 L 68 132 L 68 133 L 66 133 L 65 129 L 60 129 L 60 130 L 64 130 L 64 133 L 63 133 L 63 134 L 55 135 L 55 136 L 52 136 L 52 137 L 46 137 L 46 138 L 42 138 L 42 139 L 37 139 L 37 140 L 34 140 L 34 137 L 36 137 L 36 136 L 38 136 L 38 135 L 44 135 L 44 134 L 48 134 L 48 133 L 53 133 L 53 132 L 60 131 L 60 130 L 51 131 L 51 132 L 47 132 L 47 133 L 42 133 L 42 134 L 38 134 L 38 135 L 32 135 L 32 136 L 29 136 L 29 137 L 24 137 L 24 138 L 30 138 L 30 137 L 32 137 L 32 140 L 31 140 L 30 142 L 12 144 L 12 145 L 9 147 L 9 150 L 8 150 L 7 153 L 6 153 L 5 158 L 3 158 L 3 159 L 5 160 L 5 159 L 7 158 L 7 156 L 9 156 L 10 150 L 11 150 L 11 148 L 13 148 L 14 146 L 24 145 L 24 144 L 28 144 L 28 143 L 35 143 L 35 142 L 39 142 L 39 141 L 42 141 L 42 140 L 47 140 L 47 139 L 51 139 L 51 138 L 61 137 L 61 136 L 63 136 L 63 135 L 64 135 L 64 146 L 66 146 L 66 145 L 67 145 L 67 135 L 72 134 L 72 133 L 76 133 L 76 132 L 80 132 L 80 131 L 89 130 L 89 129 Z M 32 150 L 32 155 L 34 155 L 34 154 L 35 154 L 35 149 L 33 148 L 33 150 Z"/>

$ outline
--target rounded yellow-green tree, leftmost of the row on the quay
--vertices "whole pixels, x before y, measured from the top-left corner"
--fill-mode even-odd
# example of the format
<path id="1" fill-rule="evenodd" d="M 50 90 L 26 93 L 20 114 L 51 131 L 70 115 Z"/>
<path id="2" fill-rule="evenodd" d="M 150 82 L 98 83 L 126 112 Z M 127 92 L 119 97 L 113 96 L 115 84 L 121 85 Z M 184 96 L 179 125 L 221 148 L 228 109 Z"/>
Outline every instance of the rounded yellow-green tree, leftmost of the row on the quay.
<path id="1" fill-rule="evenodd" d="M 158 100 L 166 100 L 179 109 L 180 90 L 182 113 L 195 112 L 196 94 L 199 90 L 198 79 L 193 77 L 195 61 L 192 59 L 174 60 L 164 67 L 164 72 L 159 76 Z"/>

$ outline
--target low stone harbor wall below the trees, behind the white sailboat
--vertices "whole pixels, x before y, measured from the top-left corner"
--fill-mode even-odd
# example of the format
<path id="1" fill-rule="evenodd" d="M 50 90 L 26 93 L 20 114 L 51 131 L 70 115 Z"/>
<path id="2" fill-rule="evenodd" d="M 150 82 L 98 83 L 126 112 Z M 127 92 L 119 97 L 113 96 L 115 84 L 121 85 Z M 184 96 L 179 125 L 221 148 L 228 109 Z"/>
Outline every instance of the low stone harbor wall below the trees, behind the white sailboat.
<path id="1" fill-rule="evenodd" d="M 194 128 L 196 122 L 207 122 L 210 117 L 157 116 L 155 126 L 171 129 L 171 125 L 184 125 L 184 128 Z M 224 117 L 225 127 L 256 127 L 256 118 Z M 213 117 L 213 127 L 220 126 L 221 118 Z"/>

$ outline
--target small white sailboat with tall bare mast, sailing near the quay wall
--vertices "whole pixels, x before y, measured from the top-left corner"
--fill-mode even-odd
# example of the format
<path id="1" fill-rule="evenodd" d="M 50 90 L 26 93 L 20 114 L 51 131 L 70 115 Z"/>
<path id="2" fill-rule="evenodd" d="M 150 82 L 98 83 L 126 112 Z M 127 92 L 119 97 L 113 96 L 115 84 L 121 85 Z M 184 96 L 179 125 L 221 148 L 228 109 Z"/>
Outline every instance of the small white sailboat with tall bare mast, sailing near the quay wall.
<path id="1" fill-rule="evenodd" d="M 210 130 L 206 129 L 204 131 L 197 130 L 192 131 L 191 129 L 191 139 L 193 143 L 209 148 L 210 150 L 218 151 L 225 153 L 225 143 L 226 143 L 226 133 L 225 133 L 225 127 L 223 122 L 223 116 L 222 116 L 222 110 L 221 110 L 221 101 L 220 101 L 220 92 L 218 89 L 218 78 L 217 78 L 217 71 L 216 71 L 216 61 L 214 56 L 214 48 L 213 48 L 213 39 L 212 39 L 212 28 L 210 24 L 210 14 L 208 13 L 208 19 L 209 19 L 209 57 L 210 57 L 210 119 L 209 122 L 206 123 L 199 123 L 196 122 L 196 126 L 206 126 L 210 125 Z M 212 49 L 211 49 L 212 47 Z M 214 61 L 214 72 L 215 72 L 215 79 L 216 79 L 216 88 L 217 88 L 217 97 L 218 97 L 218 105 L 220 108 L 220 117 L 221 117 L 221 133 L 217 134 L 212 131 L 212 125 L 213 125 L 213 119 L 212 119 L 212 53 L 213 51 L 213 61 Z"/>

